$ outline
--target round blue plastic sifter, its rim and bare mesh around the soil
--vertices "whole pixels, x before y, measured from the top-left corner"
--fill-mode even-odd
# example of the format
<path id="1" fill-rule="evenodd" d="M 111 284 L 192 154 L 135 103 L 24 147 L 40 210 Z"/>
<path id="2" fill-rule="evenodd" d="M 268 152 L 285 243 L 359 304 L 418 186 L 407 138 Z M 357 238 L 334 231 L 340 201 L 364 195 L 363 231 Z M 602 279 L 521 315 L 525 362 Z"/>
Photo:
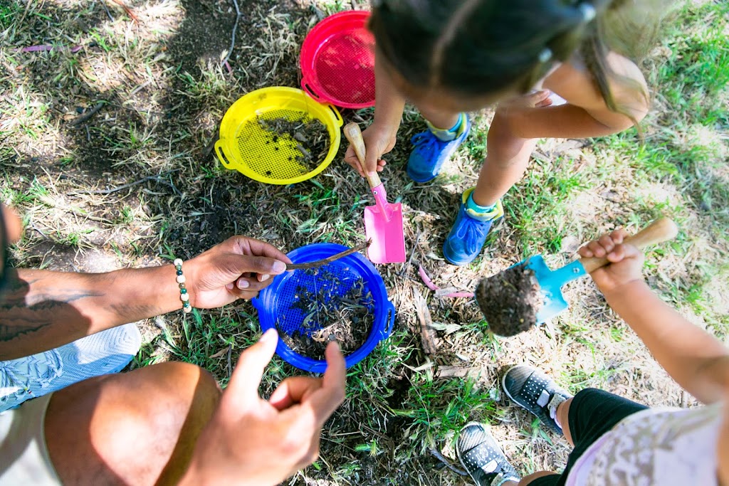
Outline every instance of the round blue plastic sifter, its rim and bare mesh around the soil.
<path id="1" fill-rule="evenodd" d="M 291 251 L 288 256 L 294 263 L 315 262 L 347 249 L 346 246 L 335 243 L 313 243 Z M 322 280 L 321 277 L 310 275 L 302 270 L 293 270 L 273 278 L 273 282 L 263 289 L 258 297 L 252 300 L 252 303 L 258 310 L 258 319 L 263 332 L 271 328 L 276 329 L 278 321 L 279 333 L 291 335 L 295 332 L 304 332 L 311 334 L 318 329 L 312 328 L 310 325 L 303 326 L 307 315 L 304 310 L 293 305 L 297 301 L 297 291 L 300 291 L 301 288 L 321 290 L 322 286 L 330 286 L 332 296 L 343 297 L 352 286 L 363 285 L 364 291 L 370 291 L 372 295 L 371 301 L 367 303 L 367 310 L 373 313 L 374 321 L 372 331 L 364 344 L 345 356 L 347 367 L 351 367 L 370 354 L 380 341 L 390 337 L 395 321 L 395 307 L 387 298 L 382 277 L 374 265 L 362 254 L 350 254 L 320 268 L 325 268 L 327 274 L 336 278 L 337 282 L 328 279 Z M 287 363 L 307 372 L 323 373 L 327 368 L 326 361 L 296 353 L 281 338 L 276 346 L 276 354 Z"/>

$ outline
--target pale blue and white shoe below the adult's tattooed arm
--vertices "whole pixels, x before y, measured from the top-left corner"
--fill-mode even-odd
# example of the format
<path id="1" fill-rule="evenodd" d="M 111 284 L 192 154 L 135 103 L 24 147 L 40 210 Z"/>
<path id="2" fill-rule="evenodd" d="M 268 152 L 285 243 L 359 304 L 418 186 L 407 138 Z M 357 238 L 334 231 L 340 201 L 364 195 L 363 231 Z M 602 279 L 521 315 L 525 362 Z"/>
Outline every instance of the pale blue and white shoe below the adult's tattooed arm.
<path id="1" fill-rule="evenodd" d="M 125 324 L 60 348 L 0 361 L 0 412 L 87 378 L 119 372 L 140 346 L 136 324 Z"/>

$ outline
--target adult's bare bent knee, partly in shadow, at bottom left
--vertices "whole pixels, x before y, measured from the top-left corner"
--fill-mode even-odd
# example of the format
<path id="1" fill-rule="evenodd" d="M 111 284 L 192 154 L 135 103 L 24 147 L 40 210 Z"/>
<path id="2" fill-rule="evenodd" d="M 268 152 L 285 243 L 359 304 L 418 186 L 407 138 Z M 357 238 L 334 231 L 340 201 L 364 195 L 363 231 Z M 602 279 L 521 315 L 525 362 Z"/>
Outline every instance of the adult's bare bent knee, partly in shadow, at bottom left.
<path id="1" fill-rule="evenodd" d="M 185 363 L 72 385 L 53 396 L 46 415 L 52 462 L 69 484 L 155 484 L 184 471 L 219 397 L 214 378 Z"/>

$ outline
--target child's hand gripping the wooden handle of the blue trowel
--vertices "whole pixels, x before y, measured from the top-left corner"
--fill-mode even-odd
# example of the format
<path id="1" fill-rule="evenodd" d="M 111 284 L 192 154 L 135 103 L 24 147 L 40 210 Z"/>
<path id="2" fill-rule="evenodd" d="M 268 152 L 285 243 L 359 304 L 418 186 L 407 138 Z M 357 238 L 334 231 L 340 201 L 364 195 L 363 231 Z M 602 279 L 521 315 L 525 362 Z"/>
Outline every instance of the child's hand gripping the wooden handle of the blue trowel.
<path id="1" fill-rule="evenodd" d="M 580 248 L 580 256 L 607 256 L 610 264 L 590 274 L 603 294 L 642 278 L 643 254 L 630 243 L 623 244 L 627 236 L 625 230 L 615 230 Z"/>

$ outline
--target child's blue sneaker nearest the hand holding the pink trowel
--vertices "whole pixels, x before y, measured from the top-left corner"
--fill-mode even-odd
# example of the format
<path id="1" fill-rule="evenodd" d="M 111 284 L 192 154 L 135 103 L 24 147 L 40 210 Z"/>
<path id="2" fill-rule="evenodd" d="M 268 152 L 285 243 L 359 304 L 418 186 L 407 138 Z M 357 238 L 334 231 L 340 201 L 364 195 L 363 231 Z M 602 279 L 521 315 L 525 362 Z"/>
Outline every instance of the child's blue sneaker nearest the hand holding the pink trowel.
<path id="1" fill-rule="evenodd" d="M 463 143 L 471 130 L 471 122 L 464 114 L 461 115 L 461 128 L 458 136 L 451 141 L 440 140 L 431 130 L 417 133 L 410 140 L 413 142 L 413 152 L 408 159 L 408 176 L 416 182 L 427 182 L 435 179 L 440 172 L 443 162 L 448 160 L 453 152 Z"/>

